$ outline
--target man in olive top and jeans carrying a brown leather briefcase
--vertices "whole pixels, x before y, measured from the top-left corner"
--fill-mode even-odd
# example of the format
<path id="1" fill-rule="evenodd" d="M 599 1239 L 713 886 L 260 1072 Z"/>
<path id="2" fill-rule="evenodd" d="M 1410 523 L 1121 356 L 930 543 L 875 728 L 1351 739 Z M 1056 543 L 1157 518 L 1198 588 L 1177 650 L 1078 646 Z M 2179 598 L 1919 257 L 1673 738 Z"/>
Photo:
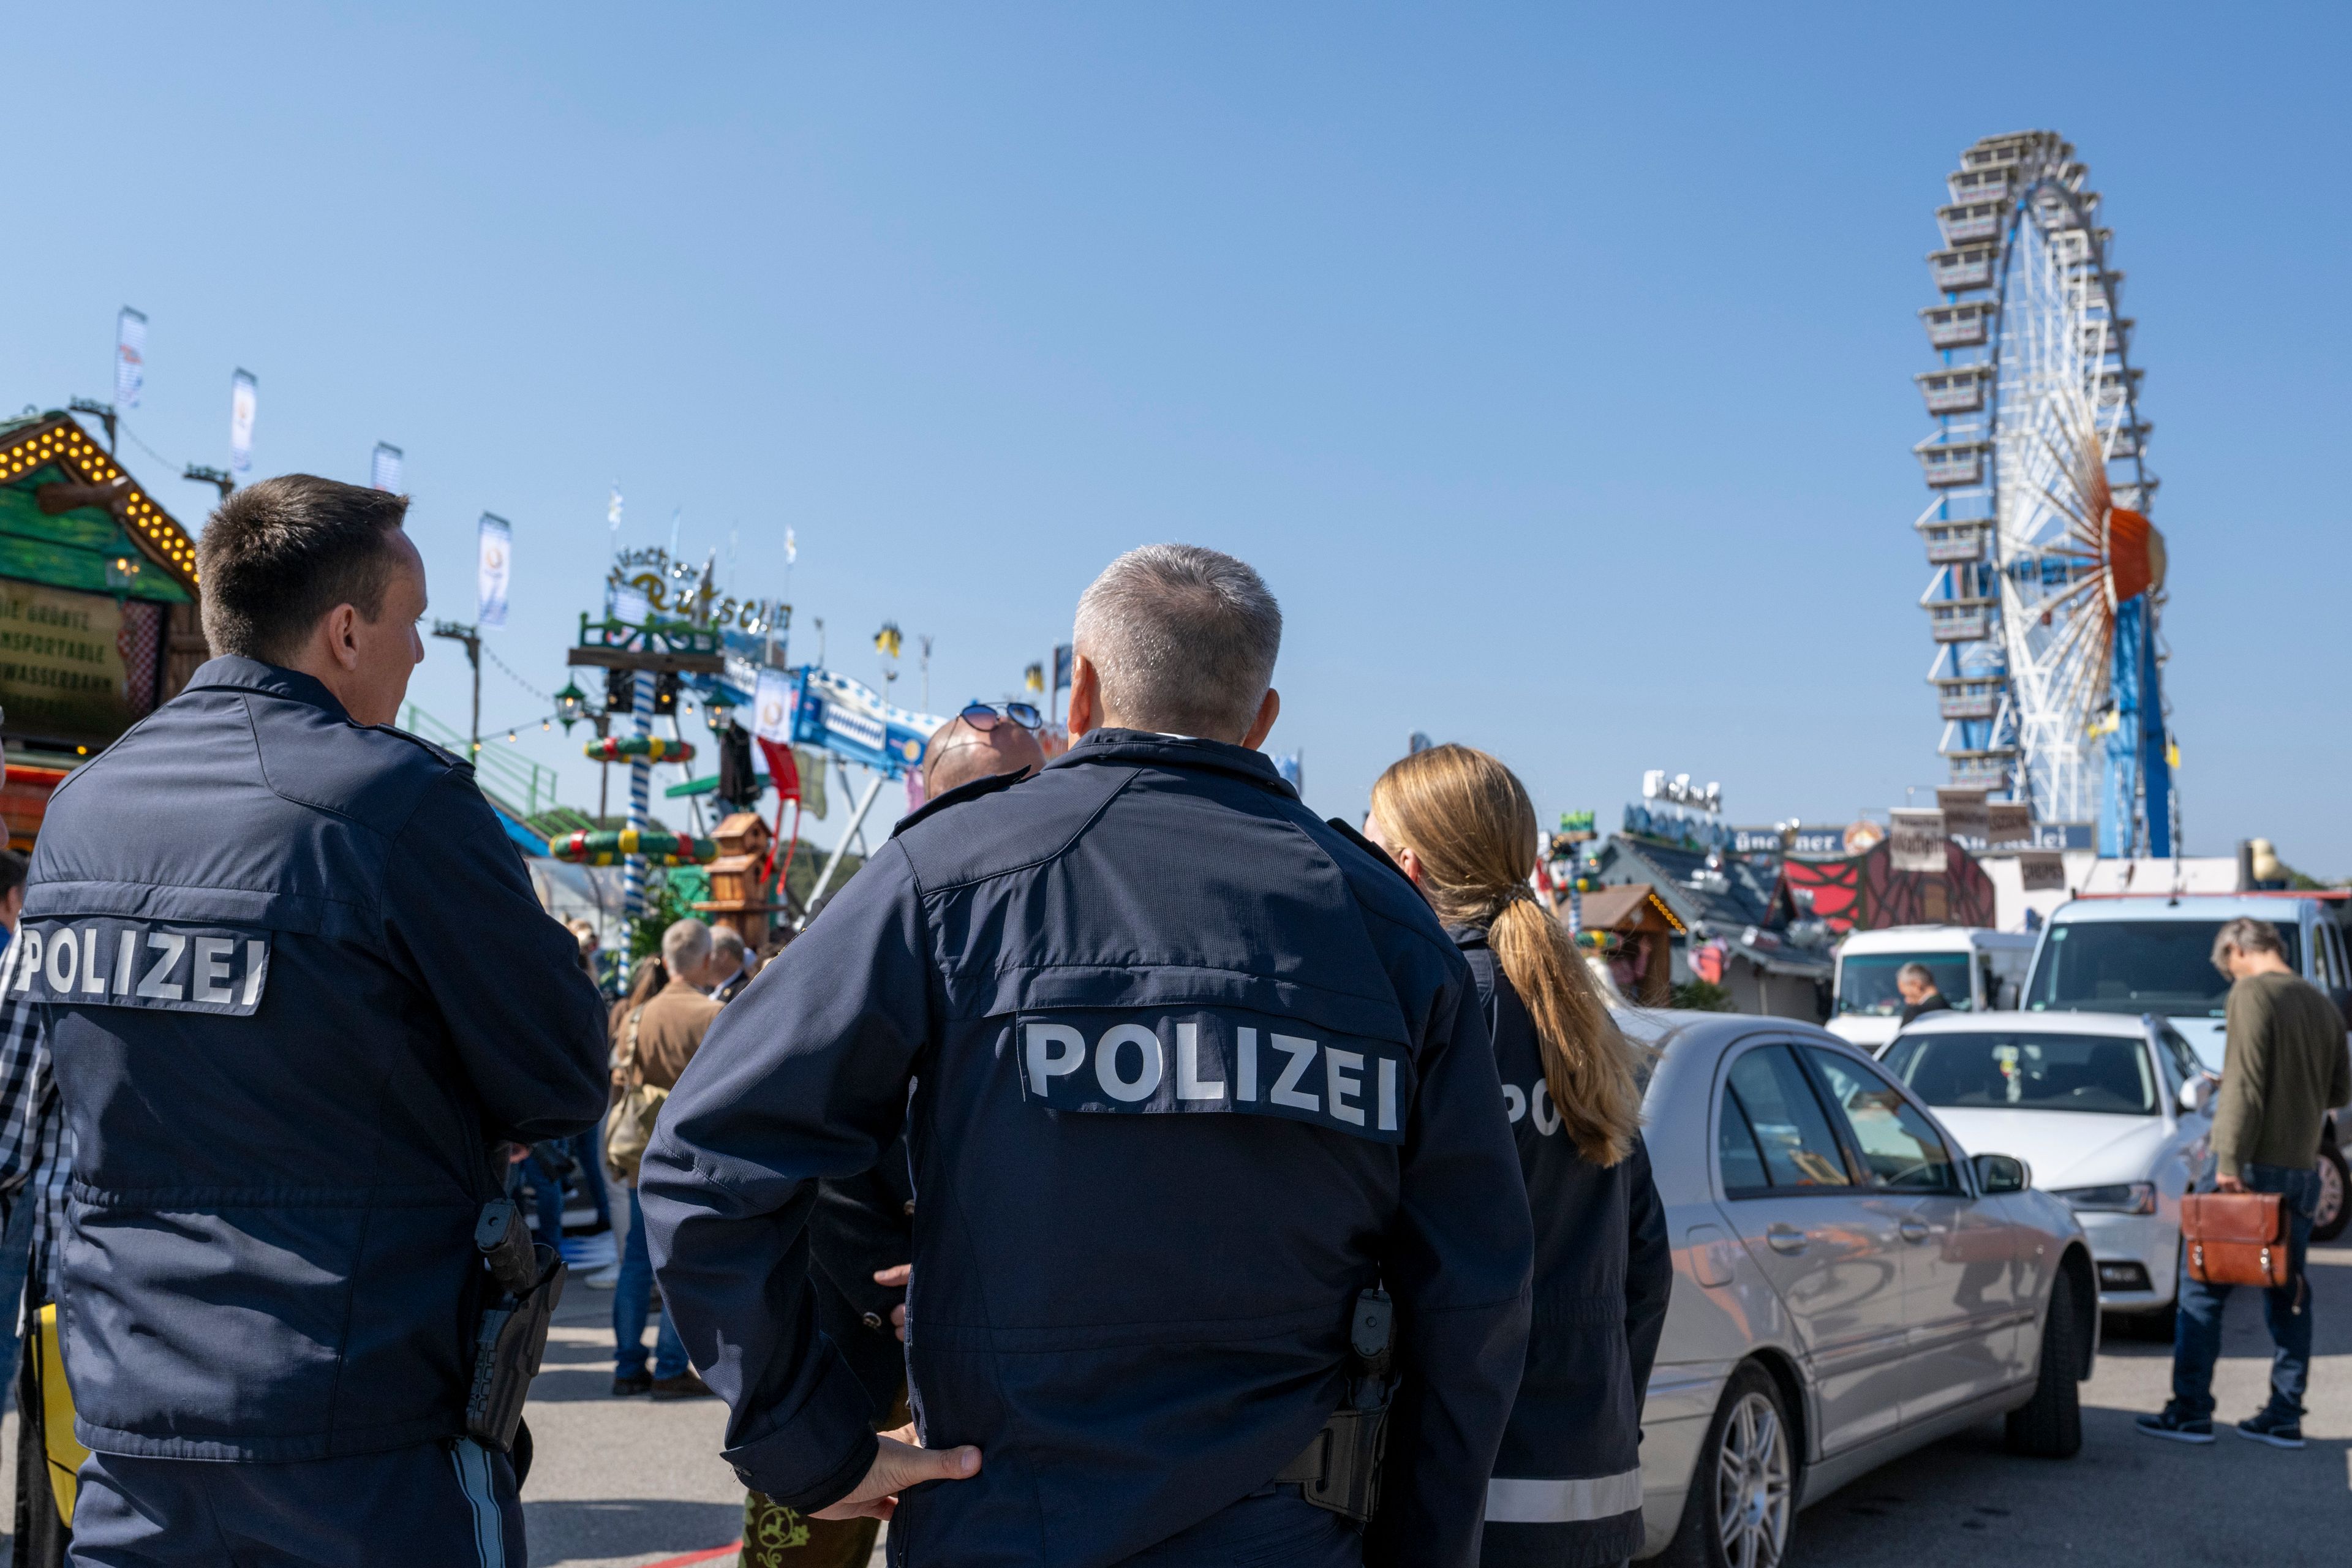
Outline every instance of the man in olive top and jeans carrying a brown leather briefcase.
<path id="1" fill-rule="evenodd" d="M 2303 1387 L 2312 1366 L 2312 1286 L 2303 1253 L 2319 1206 L 2319 1126 L 2352 1100 L 2345 1020 L 2319 987 L 2286 964 L 2270 922 L 2232 919 L 2213 938 L 2213 966 L 2230 976 L 2227 1056 L 2213 1105 L 2213 1190 L 2279 1192 L 2288 1213 L 2286 1284 L 2263 1293 L 2263 1319 L 2279 1347 L 2270 1403 L 2237 1422 L 2239 1434 L 2274 1448 L 2303 1448 Z M 2173 1331 L 2173 1401 L 2143 1415 L 2140 1432 L 2178 1443 L 2213 1441 L 2213 1361 L 2230 1286 L 2180 1274 Z"/>

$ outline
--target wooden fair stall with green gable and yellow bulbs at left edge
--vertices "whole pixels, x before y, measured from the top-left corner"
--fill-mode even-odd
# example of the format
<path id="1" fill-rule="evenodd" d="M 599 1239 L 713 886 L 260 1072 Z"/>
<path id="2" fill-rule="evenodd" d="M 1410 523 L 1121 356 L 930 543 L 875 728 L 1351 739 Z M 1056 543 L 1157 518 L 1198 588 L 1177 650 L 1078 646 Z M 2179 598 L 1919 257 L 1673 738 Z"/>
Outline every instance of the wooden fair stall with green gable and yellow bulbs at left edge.
<path id="1" fill-rule="evenodd" d="M 195 541 L 68 414 L 0 421 L 0 738 L 7 842 L 66 773 L 205 661 Z"/>

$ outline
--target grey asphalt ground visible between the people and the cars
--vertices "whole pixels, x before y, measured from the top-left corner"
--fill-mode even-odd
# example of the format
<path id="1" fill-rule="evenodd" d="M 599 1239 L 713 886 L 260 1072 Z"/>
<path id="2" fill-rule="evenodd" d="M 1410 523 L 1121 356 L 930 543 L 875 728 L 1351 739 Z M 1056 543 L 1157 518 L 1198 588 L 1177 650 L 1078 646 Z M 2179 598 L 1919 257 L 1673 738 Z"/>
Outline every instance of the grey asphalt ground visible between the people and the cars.
<path id="1" fill-rule="evenodd" d="M 2164 1406 L 2171 1347 L 2110 1333 L 2082 1389 L 2077 1458 L 2013 1458 L 1999 1422 L 1987 1422 L 1809 1507 L 1790 1568 L 2340 1568 L 2352 1549 L 2352 1248 L 2312 1253 L 2312 1298 L 2317 1354 L 2300 1453 L 2227 1429 L 2211 1448 L 2140 1436 L 2131 1418 Z M 574 1286 L 532 1389 L 539 1460 L 524 1514 L 534 1568 L 642 1568 L 741 1533 L 743 1490 L 717 1458 L 724 1408 L 612 1399 L 609 1312 L 612 1293 Z M 2239 1293 L 2216 1378 L 2220 1422 L 2260 1408 L 2267 1378 L 2263 1307 Z M 7 1486 L 14 1439 L 9 1415 L 0 1422 Z M 9 1505 L 0 1521 L 12 1514 Z"/>

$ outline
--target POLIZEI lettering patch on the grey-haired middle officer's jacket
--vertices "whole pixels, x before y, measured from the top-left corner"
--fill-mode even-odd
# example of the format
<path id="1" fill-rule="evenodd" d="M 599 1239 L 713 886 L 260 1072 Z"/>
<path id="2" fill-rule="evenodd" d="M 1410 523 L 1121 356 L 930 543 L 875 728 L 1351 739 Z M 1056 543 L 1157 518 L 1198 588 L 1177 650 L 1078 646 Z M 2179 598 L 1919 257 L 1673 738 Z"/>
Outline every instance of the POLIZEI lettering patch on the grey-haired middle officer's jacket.
<path id="1" fill-rule="evenodd" d="M 1021 1098 L 1047 1110 L 1240 1112 L 1404 1143 L 1414 1072 L 1395 1041 L 1223 1009 L 1021 1016 L 1011 1039 Z"/>

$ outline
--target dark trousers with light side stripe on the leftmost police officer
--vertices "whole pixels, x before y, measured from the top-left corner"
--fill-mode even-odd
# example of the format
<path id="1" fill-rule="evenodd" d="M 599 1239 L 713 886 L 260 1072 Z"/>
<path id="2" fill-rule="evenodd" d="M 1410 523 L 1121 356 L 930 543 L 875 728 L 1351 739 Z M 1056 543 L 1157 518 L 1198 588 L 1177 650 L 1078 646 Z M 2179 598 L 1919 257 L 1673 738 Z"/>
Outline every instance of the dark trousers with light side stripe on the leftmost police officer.
<path id="1" fill-rule="evenodd" d="M 303 1465 L 94 1453 L 75 1568 L 524 1568 L 506 1455 L 470 1439 Z"/>

